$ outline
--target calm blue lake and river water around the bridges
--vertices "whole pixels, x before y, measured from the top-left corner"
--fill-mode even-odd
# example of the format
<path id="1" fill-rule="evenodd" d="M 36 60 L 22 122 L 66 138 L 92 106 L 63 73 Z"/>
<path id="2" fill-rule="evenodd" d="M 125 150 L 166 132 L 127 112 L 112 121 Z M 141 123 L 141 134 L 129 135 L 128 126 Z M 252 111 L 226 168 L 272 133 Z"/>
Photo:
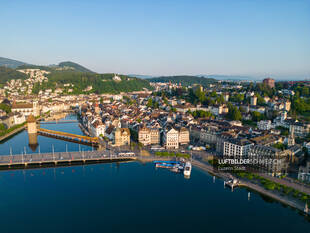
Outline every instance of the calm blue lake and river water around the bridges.
<path id="1" fill-rule="evenodd" d="M 81 133 L 77 124 L 44 125 Z M 38 138 L 41 151 L 77 144 Z M 25 132 L 0 145 L 28 147 Z M 83 149 L 91 149 L 83 146 Z M 27 153 L 31 151 L 27 148 Z M 297 211 L 247 190 L 231 192 L 193 169 L 191 178 L 138 162 L 0 172 L 0 226 L 6 232 L 310 232 Z"/>

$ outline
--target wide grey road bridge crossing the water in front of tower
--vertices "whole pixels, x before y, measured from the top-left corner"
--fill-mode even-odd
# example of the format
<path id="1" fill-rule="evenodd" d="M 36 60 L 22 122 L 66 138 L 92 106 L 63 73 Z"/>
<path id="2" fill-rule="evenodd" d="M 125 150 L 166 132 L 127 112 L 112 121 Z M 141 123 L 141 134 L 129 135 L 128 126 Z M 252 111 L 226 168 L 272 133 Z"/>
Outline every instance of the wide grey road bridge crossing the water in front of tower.
<path id="1" fill-rule="evenodd" d="M 0 156 L 0 169 L 23 169 L 27 168 L 28 166 L 34 167 L 43 165 L 65 166 L 79 163 L 121 162 L 135 159 L 137 159 L 137 157 L 134 153 L 113 155 L 100 151 L 4 155 Z"/>

